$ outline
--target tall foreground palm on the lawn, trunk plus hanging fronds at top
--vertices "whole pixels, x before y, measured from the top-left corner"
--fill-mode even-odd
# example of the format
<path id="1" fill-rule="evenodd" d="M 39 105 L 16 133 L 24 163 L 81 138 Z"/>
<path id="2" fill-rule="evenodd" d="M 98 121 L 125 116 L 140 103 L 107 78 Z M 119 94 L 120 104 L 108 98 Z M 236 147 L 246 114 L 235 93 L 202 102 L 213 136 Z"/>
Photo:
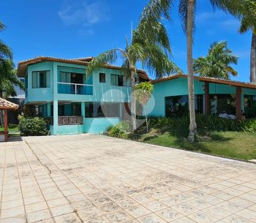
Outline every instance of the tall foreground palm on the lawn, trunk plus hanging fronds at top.
<path id="1" fill-rule="evenodd" d="M 143 10 L 141 20 L 150 24 L 153 18 L 170 19 L 170 7 L 174 0 L 150 0 Z M 214 8 L 218 7 L 233 15 L 238 15 L 241 10 L 243 0 L 209 0 Z M 195 31 L 195 5 L 196 0 L 179 0 L 179 14 L 181 15 L 181 24 L 184 33 L 187 35 L 187 78 L 188 78 L 188 93 L 189 93 L 189 141 L 195 140 L 197 133 L 197 124 L 195 122 L 195 91 L 194 91 L 194 76 L 193 76 L 193 57 L 192 43 L 193 34 Z"/>

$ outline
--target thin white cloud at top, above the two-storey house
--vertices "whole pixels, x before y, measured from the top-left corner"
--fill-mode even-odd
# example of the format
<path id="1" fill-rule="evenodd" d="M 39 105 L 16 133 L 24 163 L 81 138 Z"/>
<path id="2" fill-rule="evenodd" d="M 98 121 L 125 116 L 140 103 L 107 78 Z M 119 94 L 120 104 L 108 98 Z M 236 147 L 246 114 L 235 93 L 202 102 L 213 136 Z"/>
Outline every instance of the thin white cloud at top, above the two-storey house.
<path id="1" fill-rule="evenodd" d="M 66 6 L 59 11 L 59 17 L 66 25 L 82 24 L 89 26 L 91 24 L 99 23 L 101 20 L 107 18 L 106 7 L 102 1 L 66 1 Z"/>

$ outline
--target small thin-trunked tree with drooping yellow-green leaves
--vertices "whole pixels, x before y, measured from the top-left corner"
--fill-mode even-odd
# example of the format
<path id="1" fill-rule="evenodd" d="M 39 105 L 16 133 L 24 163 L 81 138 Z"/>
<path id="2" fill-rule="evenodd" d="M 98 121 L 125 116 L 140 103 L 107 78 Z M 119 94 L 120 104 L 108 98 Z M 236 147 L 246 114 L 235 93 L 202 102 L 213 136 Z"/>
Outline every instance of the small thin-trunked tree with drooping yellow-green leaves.
<path id="1" fill-rule="evenodd" d="M 145 116 L 146 116 L 146 128 L 148 132 L 148 116 L 147 116 L 147 108 L 146 103 L 148 99 L 150 99 L 152 93 L 154 91 L 154 86 L 150 82 L 142 82 L 135 86 L 135 98 L 141 105 L 145 107 Z"/>

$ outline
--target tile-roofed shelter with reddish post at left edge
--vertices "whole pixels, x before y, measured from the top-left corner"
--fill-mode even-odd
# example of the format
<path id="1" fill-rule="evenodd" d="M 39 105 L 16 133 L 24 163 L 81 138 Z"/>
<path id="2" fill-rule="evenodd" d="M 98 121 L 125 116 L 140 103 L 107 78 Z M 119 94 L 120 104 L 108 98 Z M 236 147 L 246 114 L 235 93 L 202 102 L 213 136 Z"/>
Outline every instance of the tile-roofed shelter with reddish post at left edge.
<path id="1" fill-rule="evenodd" d="M 15 103 L 9 102 L 5 99 L 0 98 L 0 110 L 4 110 L 4 132 L 0 132 L 0 142 L 1 136 L 4 135 L 4 141 L 8 140 L 8 110 L 17 110 L 18 105 Z"/>

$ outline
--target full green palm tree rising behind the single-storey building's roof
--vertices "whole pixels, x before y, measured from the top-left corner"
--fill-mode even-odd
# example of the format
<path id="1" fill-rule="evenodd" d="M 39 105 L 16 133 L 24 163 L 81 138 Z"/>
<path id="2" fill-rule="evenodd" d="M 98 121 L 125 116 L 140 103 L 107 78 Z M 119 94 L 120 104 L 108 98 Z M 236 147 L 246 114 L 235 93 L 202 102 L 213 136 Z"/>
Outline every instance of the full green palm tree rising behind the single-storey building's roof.
<path id="1" fill-rule="evenodd" d="M 230 79 L 238 72 L 230 66 L 237 64 L 238 58 L 227 48 L 227 42 L 214 42 L 208 54 L 194 60 L 194 72 L 202 77 Z"/>

